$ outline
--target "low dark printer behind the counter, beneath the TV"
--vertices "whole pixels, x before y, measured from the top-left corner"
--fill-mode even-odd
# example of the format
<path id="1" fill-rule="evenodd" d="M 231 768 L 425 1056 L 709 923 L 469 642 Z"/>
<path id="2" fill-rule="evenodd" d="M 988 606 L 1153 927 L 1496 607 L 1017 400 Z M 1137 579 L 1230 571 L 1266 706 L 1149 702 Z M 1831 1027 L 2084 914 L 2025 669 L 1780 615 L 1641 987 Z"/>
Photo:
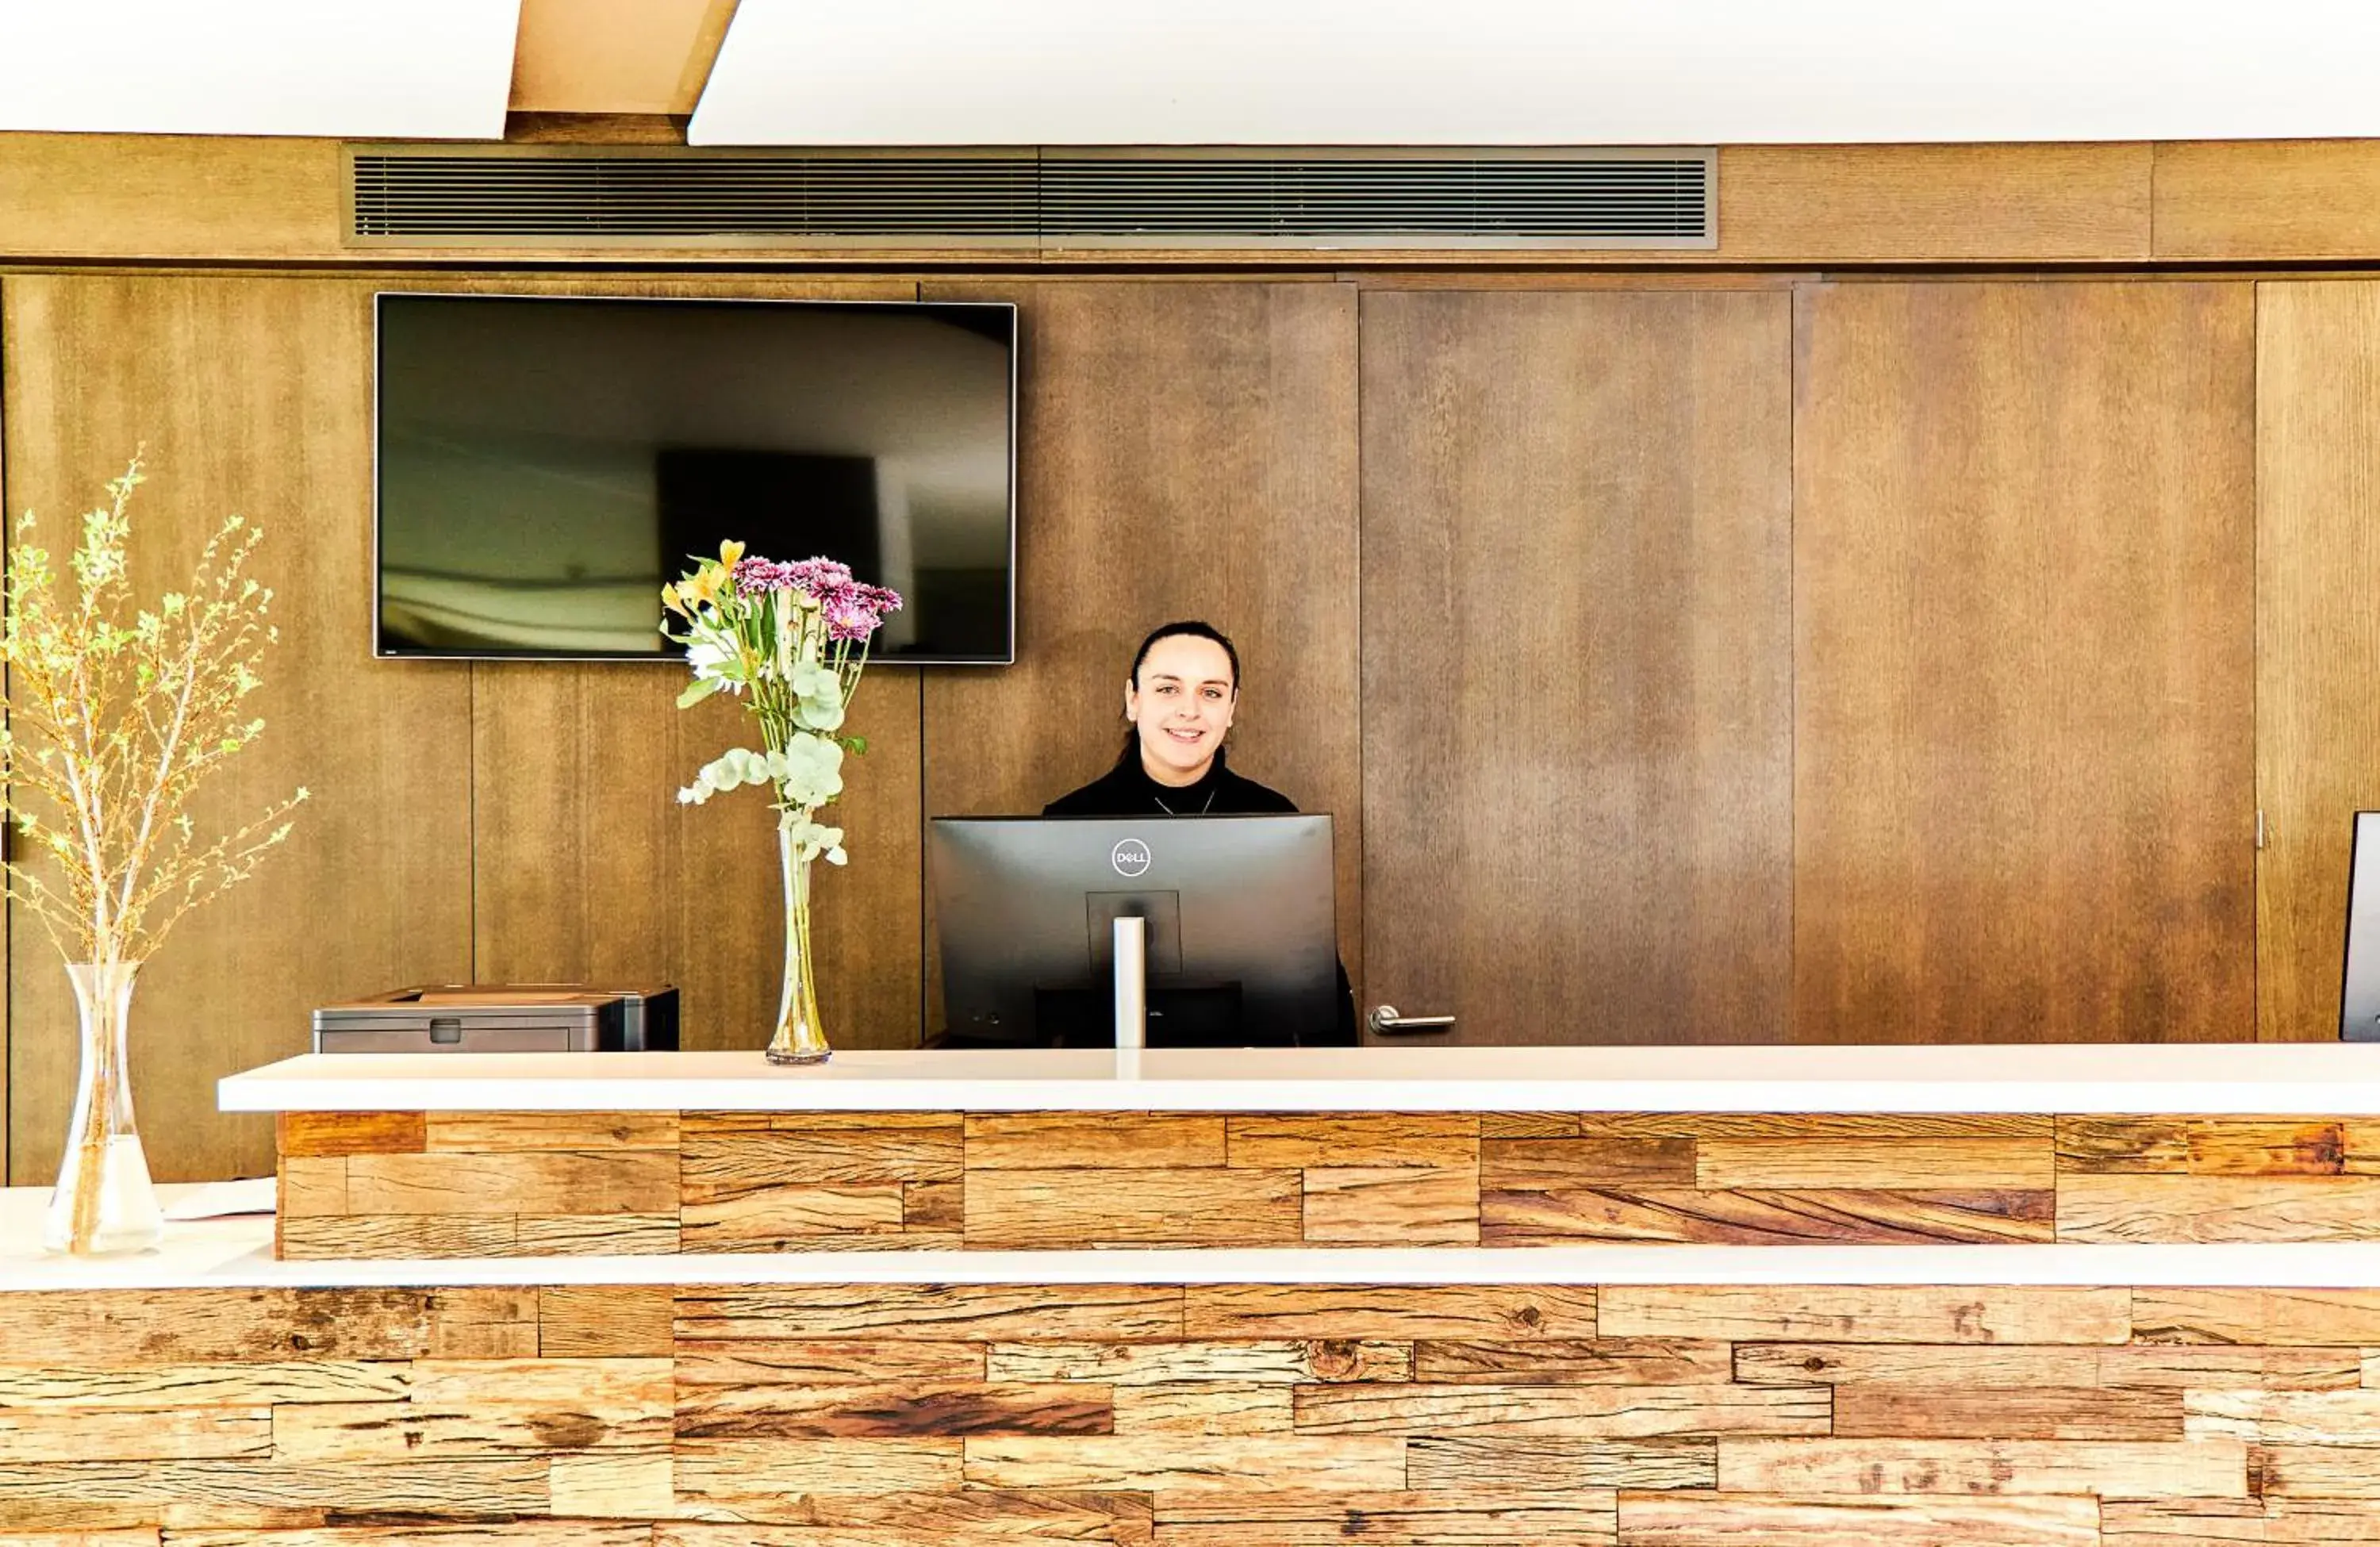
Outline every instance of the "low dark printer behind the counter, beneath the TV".
<path id="1" fill-rule="evenodd" d="M 678 1045 L 678 990 L 438 983 L 314 1012 L 314 1052 L 650 1052 Z"/>

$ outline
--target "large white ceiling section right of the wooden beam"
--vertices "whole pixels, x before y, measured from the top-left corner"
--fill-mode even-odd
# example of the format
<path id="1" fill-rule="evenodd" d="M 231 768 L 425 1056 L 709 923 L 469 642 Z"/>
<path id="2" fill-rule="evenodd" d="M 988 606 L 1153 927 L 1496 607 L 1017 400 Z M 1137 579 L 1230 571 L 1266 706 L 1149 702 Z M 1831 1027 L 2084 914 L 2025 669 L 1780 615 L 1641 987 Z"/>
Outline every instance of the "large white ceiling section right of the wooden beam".
<path id="1" fill-rule="evenodd" d="M 743 0 L 697 145 L 2380 136 L 2373 0 Z"/>

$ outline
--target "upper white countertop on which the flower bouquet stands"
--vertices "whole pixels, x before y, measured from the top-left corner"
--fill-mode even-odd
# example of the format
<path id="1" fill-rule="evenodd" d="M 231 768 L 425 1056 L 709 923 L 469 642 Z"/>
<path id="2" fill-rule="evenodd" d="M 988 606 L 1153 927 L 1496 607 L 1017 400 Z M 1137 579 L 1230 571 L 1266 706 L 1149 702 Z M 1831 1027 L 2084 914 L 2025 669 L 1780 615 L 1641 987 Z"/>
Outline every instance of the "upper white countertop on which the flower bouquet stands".
<path id="1" fill-rule="evenodd" d="M 307 1054 L 224 1111 L 2259 1111 L 2380 1114 L 2380 1042 Z"/>

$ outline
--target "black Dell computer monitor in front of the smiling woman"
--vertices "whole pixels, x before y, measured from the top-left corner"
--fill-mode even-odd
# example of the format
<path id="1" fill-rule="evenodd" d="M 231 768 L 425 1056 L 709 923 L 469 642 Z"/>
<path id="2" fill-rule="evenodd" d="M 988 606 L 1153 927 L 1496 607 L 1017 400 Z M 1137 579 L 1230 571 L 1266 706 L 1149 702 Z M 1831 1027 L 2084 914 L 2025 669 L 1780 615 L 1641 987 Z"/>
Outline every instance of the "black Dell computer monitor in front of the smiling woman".
<path id="1" fill-rule="evenodd" d="M 931 864 L 945 1045 L 1114 1045 L 1121 916 L 1150 1047 L 1333 1040 L 1328 816 L 938 816 Z"/>

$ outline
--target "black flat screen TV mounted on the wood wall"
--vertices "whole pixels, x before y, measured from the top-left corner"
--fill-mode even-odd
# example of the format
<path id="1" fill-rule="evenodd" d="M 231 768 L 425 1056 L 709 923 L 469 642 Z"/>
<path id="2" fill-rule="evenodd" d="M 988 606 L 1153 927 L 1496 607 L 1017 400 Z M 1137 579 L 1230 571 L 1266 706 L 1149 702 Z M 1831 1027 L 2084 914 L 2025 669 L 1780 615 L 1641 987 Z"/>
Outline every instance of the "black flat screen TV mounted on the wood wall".
<path id="1" fill-rule="evenodd" d="M 378 654 L 669 659 L 733 538 L 902 593 L 876 659 L 1016 659 L 1014 305 L 376 302 Z"/>

